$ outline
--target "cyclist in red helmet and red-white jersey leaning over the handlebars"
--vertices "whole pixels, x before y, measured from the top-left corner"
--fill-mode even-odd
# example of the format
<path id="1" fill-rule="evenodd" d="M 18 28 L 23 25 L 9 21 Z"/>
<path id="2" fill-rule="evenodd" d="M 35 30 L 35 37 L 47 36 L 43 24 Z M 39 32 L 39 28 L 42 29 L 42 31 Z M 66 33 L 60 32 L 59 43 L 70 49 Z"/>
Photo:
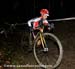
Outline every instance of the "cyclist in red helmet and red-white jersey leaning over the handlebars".
<path id="1" fill-rule="evenodd" d="M 48 23 L 49 11 L 47 9 L 40 10 L 40 17 L 33 18 L 28 21 L 28 26 L 30 27 L 30 31 L 34 32 L 34 39 L 36 38 L 36 34 L 38 31 L 43 32 L 43 25 L 47 27 L 48 30 L 51 30 L 51 25 Z M 38 41 L 38 45 L 40 45 L 40 41 Z"/>

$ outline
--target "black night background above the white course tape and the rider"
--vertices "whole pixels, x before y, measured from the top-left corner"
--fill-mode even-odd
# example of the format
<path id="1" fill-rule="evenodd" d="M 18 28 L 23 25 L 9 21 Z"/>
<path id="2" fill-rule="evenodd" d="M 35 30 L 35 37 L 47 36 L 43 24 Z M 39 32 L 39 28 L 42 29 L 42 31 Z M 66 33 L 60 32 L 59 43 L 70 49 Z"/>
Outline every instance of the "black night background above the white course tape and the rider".
<path id="1" fill-rule="evenodd" d="M 49 19 L 75 16 L 74 0 L 1 0 L 1 22 L 27 22 L 40 16 L 39 11 L 47 8 Z"/>

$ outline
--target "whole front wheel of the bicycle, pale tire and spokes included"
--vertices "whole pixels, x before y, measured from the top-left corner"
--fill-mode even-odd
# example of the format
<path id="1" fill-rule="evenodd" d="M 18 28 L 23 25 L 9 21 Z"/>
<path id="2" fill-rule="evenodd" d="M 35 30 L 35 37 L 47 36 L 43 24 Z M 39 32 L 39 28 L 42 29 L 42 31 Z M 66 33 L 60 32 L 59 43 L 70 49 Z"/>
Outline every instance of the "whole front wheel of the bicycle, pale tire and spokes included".
<path id="1" fill-rule="evenodd" d="M 59 66 L 63 57 L 63 48 L 60 40 L 52 33 L 44 33 L 44 39 L 48 51 L 44 52 L 42 44 L 37 46 L 39 36 L 34 43 L 34 57 L 40 67 L 45 69 L 54 69 Z"/>

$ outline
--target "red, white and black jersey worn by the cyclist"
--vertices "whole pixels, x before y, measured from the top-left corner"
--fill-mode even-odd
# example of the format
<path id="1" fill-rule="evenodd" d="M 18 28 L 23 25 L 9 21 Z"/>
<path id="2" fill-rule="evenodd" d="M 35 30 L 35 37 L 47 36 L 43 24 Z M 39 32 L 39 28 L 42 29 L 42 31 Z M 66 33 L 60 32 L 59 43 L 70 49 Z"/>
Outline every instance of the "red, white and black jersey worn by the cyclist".
<path id="1" fill-rule="evenodd" d="M 48 21 L 47 20 L 43 20 L 42 17 L 38 17 L 38 18 L 34 18 L 28 21 L 28 26 L 32 27 L 33 25 L 33 29 L 37 28 L 40 23 L 44 24 L 44 25 L 48 25 Z"/>

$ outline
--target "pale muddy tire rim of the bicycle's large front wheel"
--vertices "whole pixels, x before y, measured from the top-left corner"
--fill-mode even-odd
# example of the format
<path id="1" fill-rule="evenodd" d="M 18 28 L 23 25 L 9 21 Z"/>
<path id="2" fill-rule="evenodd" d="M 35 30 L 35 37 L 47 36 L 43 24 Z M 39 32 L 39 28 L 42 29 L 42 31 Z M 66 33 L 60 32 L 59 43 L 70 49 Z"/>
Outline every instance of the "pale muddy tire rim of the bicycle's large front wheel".
<path id="1" fill-rule="evenodd" d="M 55 69 L 55 68 L 57 68 L 57 67 L 60 65 L 61 60 L 62 60 L 62 57 L 63 57 L 62 44 L 61 44 L 60 40 L 57 38 L 57 36 L 55 36 L 54 34 L 52 34 L 52 33 L 44 33 L 44 36 L 45 36 L 45 35 L 49 35 L 50 37 L 54 38 L 55 41 L 56 41 L 57 44 L 58 44 L 59 56 L 58 56 L 58 59 L 57 59 L 56 63 L 51 66 L 52 69 Z M 41 63 L 41 61 L 39 60 L 39 58 L 37 57 L 37 54 L 36 54 L 36 42 L 37 42 L 38 38 L 39 38 L 39 37 L 38 37 L 38 35 L 37 35 L 37 39 L 36 39 L 35 42 L 34 42 L 34 49 L 33 49 L 34 57 L 35 57 L 35 60 L 37 61 L 37 63 L 40 65 L 40 67 L 47 68 L 46 65 L 44 65 L 43 63 Z"/>

